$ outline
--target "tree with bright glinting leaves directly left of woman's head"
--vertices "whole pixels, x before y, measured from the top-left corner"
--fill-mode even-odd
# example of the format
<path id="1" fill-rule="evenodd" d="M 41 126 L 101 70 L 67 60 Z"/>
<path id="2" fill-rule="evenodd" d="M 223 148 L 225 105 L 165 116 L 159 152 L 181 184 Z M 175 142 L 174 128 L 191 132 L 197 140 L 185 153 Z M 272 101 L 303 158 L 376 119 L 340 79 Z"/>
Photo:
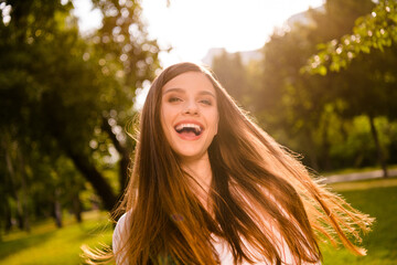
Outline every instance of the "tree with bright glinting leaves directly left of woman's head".
<path id="1" fill-rule="evenodd" d="M 100 128 L 120 155 L 119 183 L 124 190 L 135 144 L 120 128 L 125 128 L 133 115 L 131 98 L 136 88 L 153 80 L 155 70 L 160 67 L 160 50 L 155 40 L 148 39 L 139 0 L 93 2 L 104 19 L 103 28 L 90 40 L 98 51 L 96 56 L 105 77 L 114 75 L 118 82 L 112 85 L 115 88 L 108 99 L 110 106 L 103 112 Z"/>

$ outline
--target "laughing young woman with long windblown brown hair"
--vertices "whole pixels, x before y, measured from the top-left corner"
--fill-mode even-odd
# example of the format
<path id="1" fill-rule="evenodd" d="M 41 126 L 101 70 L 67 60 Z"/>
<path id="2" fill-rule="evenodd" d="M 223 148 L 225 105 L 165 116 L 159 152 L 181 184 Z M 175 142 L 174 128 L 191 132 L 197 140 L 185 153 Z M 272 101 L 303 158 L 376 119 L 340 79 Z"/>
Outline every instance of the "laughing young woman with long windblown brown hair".
<path id="1" fill-rule="evenodd" d="M 165 68 L 146 99 L 114 233 L 117 264 L 320 264 L 319 240 L 372 219 L 308 170 L 192 63 Z"/>

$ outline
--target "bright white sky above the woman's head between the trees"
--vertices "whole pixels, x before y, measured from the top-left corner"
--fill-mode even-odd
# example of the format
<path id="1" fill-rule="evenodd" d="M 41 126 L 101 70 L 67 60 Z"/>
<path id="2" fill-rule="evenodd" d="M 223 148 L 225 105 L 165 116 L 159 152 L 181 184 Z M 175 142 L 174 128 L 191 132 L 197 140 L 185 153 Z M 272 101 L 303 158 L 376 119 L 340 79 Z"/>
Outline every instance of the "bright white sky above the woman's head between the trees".
<path id="1" fill-rule="evenodd" d="M 125 0 L 119 0 L 125 1 Z M 324 0 L 143 0 L 142 15 L 149 36 L 160 47 L 162 66 L 190 61 L 200 63 L 212 47 L 228 52 L 264 46 L 275 28 L 291 15 L 320 7 Z M 73 0 L 82 31 L 100 26 L 100 12 L 90 0 Z"/>

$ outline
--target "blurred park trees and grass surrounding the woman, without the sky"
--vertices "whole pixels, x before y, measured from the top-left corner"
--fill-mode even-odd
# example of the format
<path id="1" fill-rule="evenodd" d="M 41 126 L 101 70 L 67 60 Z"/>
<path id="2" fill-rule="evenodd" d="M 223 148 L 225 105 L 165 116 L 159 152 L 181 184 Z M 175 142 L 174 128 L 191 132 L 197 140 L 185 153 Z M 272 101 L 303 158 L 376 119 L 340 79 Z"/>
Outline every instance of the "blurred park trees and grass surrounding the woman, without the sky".
<path id="1" fill-rule="evenodd" d="M 172 47 L 148 35 L 140 1 L 93 4 L 100 26 L 83 33 L 69 1 L 0 2 L 0 264 L 78 264 L 83 244 L 110 244 L 137 95 Z M 258 50 L 206 57 L 253 119 L 319 174 L 380 170 L 330 184 L 377 222 L 367 256 L 323 243 L 324 264 L 397 263 L 387 170 L 397 165 L 396 24 L 395 0 L 328 0 Z"/>

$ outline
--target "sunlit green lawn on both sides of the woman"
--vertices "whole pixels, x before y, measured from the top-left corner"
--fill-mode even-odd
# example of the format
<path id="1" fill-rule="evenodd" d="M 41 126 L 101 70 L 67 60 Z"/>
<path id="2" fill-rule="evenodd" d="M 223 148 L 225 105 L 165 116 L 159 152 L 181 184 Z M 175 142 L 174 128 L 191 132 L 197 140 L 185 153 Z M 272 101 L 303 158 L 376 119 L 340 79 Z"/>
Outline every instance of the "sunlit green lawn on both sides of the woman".
<path id="1" fill-rule="evenodd" d="M 352 205 L 375 216 L 377 221 L 373 232 L 364 239 L 367 256 L 357 257 L 346 250 L 322 244 L 324 265 L 397 264 L 397 183 L 383 181 L 333 184 Z M 362 188 L 357 190 L 356 187 Z M 100 242 L 109 244 L 111 241 L 111 223 L 107 221 L 106 214 L 88 213 L 84 220 L 77 224 L 68 216 L 65 219 L 65 227 L 60 230 L 49 220 L 34 225 L 30 234 L 13 232 L 3 235 L 0 242 L 0 264 L 79 264 L 82 244 L 93 247 L 100 246 Z"/>

